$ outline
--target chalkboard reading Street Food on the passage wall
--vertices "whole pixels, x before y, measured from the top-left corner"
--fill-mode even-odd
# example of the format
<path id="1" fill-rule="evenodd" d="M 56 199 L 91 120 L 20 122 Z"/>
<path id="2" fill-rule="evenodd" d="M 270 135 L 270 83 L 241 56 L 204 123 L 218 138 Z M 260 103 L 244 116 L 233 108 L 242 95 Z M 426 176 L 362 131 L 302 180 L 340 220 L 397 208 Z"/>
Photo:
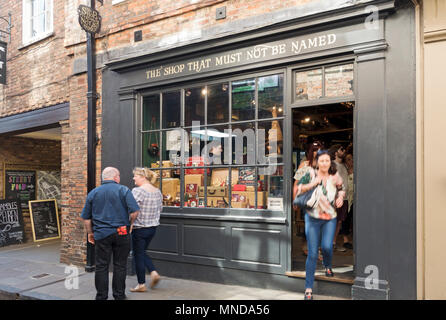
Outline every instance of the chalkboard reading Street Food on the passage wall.
<path id="1" fill-rule="evenodd" d="M 5 170 L 5 199 L 18 199 L 27 210 L 28 201 L 36 200 L 36 171 Z"/>

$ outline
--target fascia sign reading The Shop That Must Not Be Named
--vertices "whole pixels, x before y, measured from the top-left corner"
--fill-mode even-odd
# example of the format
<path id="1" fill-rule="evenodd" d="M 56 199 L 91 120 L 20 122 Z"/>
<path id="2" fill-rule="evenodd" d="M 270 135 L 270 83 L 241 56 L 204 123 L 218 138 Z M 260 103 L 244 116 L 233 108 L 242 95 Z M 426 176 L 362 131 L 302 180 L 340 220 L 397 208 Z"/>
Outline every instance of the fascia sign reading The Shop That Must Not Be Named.
<path id="1" fill-rule="evenodd" d="M 362 25 L 350 25 L 235 50 L 220 51 L 176 63 L 150 64 L 143 69 L 144 71 L 136 69 L 127 72 L 128 76 L 123 80 L 122 86 L 156 83 L 234 67 L 248 68 L 251 64 L 271 64 L 275 60 L 297 61 L 301 57 L 322 50 L 339 49 L 353 44 L 357 46 L 361 43 L 382 40 L 384 38 L 383 30 L 381 25 L 376 29 L 369 29 Z"/>

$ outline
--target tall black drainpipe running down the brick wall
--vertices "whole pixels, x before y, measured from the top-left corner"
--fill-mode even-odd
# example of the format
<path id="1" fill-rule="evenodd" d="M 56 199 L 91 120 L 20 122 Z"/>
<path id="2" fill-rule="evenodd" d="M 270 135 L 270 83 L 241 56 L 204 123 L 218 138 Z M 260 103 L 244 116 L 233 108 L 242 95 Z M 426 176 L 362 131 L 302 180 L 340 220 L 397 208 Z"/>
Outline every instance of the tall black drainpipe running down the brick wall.
<path id="1" fill-rule="evenodd" d="M 90 0 L 90 7 L 95 9 L 95 0 Z M 96 187 L 96 50 L 95 35 L 87 32 L 87 76 L 88 76 L 88 119 L 87 119 L 87 192 Z M 95 248 L 87 240 L 86 272 L 95 271 Z"/>

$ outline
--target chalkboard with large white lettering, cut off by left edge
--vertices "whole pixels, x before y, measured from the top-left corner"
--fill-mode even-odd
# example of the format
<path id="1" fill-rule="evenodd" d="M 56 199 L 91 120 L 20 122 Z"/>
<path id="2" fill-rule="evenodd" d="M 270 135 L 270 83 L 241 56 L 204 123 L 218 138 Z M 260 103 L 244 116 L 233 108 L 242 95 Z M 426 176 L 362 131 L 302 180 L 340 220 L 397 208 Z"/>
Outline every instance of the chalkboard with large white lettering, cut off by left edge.
<path id="1" fill-rule="evenodd" d="M 23 216 L 19 201 L 0 200 L 0 247 L 23 241 Z"/>

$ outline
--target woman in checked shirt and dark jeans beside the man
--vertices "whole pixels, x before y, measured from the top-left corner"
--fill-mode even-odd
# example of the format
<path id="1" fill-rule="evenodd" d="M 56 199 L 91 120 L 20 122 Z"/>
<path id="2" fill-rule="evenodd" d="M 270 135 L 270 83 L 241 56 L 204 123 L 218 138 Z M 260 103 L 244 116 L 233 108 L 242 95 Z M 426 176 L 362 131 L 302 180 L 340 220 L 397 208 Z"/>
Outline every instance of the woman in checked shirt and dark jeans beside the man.
<path id="1" fill-rule="evenodd" d="M 135 168 L 133 180 L 136 188 L 132 190 L 141 211 L 135 220 L 132 231 L 133 257 L 135 261 L 136 277 L 138 285 L 130 289 L 131 292 L 147 291 L 146 268 L 150 272 L 150 288 L 154 288 L 160 280 L 160 275 L 153 265 L 152 259 L 146 250 L 159 226 L 160 213 L 163 208 L 163 195 L 153 184 L 157 177 L 147 168 Z"/>

